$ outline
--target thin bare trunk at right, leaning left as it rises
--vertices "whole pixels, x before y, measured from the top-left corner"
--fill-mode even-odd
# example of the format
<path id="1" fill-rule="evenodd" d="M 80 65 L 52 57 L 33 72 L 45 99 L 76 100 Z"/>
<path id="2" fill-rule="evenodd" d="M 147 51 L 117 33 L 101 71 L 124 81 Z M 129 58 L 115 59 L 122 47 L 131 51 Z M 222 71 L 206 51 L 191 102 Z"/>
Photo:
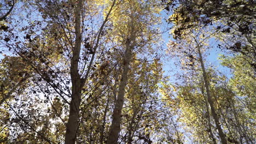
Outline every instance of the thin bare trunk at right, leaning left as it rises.
<path id="1" fill-rule="evenodd" d="M 201 54 L 200 46 L 199 45 L 197 45 L 197 51 L 198 51 L 199 57 L 200 57 L 199 61 L 200 61 L 201 68 L 202 68 L 202 71 L 203 71 L 203 80 L 205 81 L 207 101 L 208 101 L 208 103 L 210 105 L 210 108 L 211 108 L 212 117 L 213 117 L 214 122 L 216 124 L 216 127 L 218 129 L 218 134 L 219 134 L 219 137 L 220 137 L 220 141 L 223 144 L 227 144 L 227 141 L 226 141 L 226 138 L 225 138 L 225 134 L 223 133 L 222 127 L 220 127 L 219 117 L 218 117 L 218 115 L 216 113 L 216 110 L 215 110 L 215 107 L 214 107 L 214 104 L 213 104 L 213 100 L 212 100 L 212 97 L 211 97 L 210 84 L 209 84 L 208 79 L 207 79 L 205 65 L 203 64 L 202 54 Z"/>

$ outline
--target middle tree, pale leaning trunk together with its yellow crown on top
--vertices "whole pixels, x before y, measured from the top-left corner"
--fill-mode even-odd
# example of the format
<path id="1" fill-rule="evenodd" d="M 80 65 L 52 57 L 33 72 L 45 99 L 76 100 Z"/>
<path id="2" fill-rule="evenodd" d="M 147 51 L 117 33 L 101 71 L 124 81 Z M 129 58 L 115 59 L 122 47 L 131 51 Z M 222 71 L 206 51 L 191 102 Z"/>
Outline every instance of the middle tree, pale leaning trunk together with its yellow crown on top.
<path id="1" fill-rule="evenodd" d="M 107 143 L 117 143 L 120 132 L 121 112 L 124 105 L 124 96 L 129 73 L 130 63 L 134 52 L 144 51 L 154 41 L 153 20 L 156 20 L 154 14 L 158 14 L 158 9 L 153 9 L 153 1 L 144 3 L 138 1 L 123 1 L 118 5 L 117 10 L 112 17 L 113 31 L 116 33 L 118 46 L 123 49 L 123 65 L 121 79 L 118 86 L 118 94 L 115 99 L 112 124 L 109 129 Z"/>

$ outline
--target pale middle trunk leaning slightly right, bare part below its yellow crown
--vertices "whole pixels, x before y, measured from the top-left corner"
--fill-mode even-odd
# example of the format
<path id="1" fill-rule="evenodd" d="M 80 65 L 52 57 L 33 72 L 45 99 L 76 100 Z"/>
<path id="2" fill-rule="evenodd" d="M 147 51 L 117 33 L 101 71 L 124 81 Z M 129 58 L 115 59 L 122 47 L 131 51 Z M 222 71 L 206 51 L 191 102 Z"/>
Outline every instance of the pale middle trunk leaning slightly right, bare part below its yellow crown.
<path id="1" fill-rule="evenodd" d="M 124 104 L 125 87 L 127 83 L 127 74 L 129 71 L 129 64 L 131 61 L 132 49 L 133 49 L 133 46 L 131 45 L 131 40 L 127 39 L 126 51 L 123 58 L 123 73 L 121 76 L 121 82 L 119 84 L 117 100 L 115 101 L 113 119 L 109 129 L 107 144 L 118 143 L 118 134 L 120 132 L 120 124 L 121 124 L 121 111 Z"/>

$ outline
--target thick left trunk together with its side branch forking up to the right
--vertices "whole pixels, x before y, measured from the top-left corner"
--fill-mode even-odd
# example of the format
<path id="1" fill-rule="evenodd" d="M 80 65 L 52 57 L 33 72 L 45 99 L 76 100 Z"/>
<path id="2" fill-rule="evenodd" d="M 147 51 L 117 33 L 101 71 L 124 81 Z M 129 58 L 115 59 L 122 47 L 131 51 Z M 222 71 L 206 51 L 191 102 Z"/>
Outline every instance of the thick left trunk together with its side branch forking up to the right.
<path id="1" fill-rule="evenodd" d="M 68 116 L 68 123 L 66 128 L 66 136 L 65 136 L 65 144 L 73 144 L 75 143 L 75 139 L 77 137 L 77 130 L 79 127 L 79 110 L 80 110 L 80 103 L 81 103 L 81 96 L 82 96 L 82 88 L 88 79 L 92 63 L 95 58 L 95 53 L 97 50 L 97 47 L 99 45 L 101 34 L 103 31 L 104 25 L 106 25 L 106 22 L 108 21 L 108 17 L 111 13 L 111 11 L 114 8 L 116 0 L 113 1 L 110 10 L 108 11 L 107 16 L 105 17 L 100 30 L 97 34 L 96 38 L 96 44 L 94 46 L 94 51 L 91 57 L 91 60 L 89 62 L 88 70 L 85 74 L 85 76 L 82 78 L 82 76 L 79 74 L 79 55 L 81 50 L 81 43 L 82 43 L 82 27 L 81 27 L 81 14 L 82 14 L 82 8 L 83 8 L 83 2 L 84 0 L 77 0 L 72 1 L 73 5 L 75 6 L 74 9 L 74 18 L 75 18 L 75 46 L 72 47 L 72 58 L 71 58 L 71 80 L 72 80 L 72 94 L 71 94 L 71 102 L 70 102 L 70 108 L 69 108 L 69 116 Z"/>

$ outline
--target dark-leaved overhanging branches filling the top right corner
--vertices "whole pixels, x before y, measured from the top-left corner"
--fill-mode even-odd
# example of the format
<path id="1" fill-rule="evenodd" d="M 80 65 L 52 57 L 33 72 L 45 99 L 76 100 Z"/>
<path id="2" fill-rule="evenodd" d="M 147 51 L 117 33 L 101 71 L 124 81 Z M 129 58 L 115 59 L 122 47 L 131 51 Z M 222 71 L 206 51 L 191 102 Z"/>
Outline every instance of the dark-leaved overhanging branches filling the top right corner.
<path id="1" fill-rule="evenodd" d="M 211 26 L 219 30 L 219 47 L 239 52 L 255 69 L 255 2 L 253 1 L 163 1 L 174 13 L 168 19 L 175 39 L 188 31 Z"/>

